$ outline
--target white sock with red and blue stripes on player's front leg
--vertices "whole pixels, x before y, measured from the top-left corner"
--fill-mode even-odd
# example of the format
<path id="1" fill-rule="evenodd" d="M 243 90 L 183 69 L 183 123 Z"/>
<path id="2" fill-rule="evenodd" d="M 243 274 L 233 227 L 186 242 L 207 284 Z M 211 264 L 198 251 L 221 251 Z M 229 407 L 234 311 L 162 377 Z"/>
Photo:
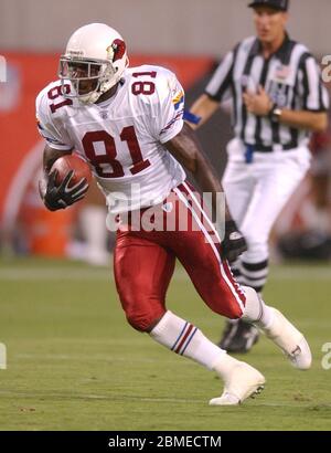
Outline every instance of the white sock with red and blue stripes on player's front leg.
<path id="1" fill-rule="evenodd" d="M 220 368 L 218 364 L 227 357 L 197 327 L 169 310 L 149 335 L 168 349 L 189 357 L 210 370 L 215 369 L 216 365 Z"/>

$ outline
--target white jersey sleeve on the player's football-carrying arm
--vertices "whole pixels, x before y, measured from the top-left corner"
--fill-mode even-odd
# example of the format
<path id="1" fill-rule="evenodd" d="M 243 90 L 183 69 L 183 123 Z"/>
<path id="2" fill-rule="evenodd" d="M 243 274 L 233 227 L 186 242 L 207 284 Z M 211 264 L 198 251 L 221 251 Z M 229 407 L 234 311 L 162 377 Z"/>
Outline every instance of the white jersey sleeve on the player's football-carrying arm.
<path id="1" fill-rule="evenodd" d="M 38 130 L 46 144 L 57 150 L 71 150 L 73 144 L 61 124 L 61 118 L 51 110 L 46 88 L 38 95 L 35 110 Z"/>

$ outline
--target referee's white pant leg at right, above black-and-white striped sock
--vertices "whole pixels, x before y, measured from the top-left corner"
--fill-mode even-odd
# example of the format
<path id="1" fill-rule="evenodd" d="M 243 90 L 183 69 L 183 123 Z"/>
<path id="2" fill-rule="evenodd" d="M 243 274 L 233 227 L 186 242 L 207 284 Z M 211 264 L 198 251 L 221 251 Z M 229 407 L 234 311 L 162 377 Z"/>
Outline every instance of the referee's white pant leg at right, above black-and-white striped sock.
<path id="1" fill-rule="evenodd" d="M 252 164 L 256 186 L 241 222 L 248 245 L 242 255 L 244 262 L 258 263 L 268 257 L 273 224 L 309 168 L 306 148 L 286 152 L 278 159 L 268 161 L 266 156 L 264 161 Z"/>

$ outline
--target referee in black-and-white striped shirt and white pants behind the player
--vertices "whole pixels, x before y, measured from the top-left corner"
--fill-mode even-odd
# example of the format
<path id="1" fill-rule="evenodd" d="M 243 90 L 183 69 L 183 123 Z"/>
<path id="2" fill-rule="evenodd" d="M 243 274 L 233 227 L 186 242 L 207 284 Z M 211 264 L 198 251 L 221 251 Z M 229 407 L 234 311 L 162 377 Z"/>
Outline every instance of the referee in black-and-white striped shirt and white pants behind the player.
<path id="1" fill-rule="evenodd" d="M 309 168 L 310 133 L 327 128 L 329 99 L 314 59 L 286 32 L 289 1 L 255 0 L 248 7 L 257 36 L 227 53 L 188 120 L 201 126 L 222 102 L 233 101 L 234 138 L 223 187 L 247 241 L 233 272 L 261 293 L 271 227 Z M 220 346 L 246 352 L 257 339 L 255 327 L 228 322 Z"/>

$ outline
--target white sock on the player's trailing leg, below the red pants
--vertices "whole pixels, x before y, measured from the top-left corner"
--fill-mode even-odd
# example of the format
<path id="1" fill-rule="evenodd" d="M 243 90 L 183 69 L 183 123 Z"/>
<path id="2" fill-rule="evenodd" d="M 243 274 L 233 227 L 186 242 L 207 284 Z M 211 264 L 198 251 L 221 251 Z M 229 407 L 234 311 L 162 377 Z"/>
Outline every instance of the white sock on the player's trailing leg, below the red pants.
<path id="1" fill-rule="evenodd" d="M 266 305 L 252 287 L 242 286 L 242 288 L 246 295 L 246 305 L 242 319 L 248 320 L 261 329 L 269 328 L 274 320 L 271 307 Z"/>

